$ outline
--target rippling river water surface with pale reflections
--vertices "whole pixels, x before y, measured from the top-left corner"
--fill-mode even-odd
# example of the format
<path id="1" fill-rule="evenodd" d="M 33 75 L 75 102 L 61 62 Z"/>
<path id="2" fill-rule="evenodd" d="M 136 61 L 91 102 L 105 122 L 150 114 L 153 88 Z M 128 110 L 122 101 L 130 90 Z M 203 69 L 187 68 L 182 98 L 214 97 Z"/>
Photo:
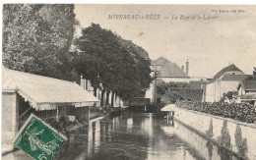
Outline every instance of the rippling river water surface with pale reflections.
<path id="1" fill-rule="evenodd" d="M 63 159 L 231 159 L 178 122 L 154 114 L 123 113 L 71 133 Z"/>

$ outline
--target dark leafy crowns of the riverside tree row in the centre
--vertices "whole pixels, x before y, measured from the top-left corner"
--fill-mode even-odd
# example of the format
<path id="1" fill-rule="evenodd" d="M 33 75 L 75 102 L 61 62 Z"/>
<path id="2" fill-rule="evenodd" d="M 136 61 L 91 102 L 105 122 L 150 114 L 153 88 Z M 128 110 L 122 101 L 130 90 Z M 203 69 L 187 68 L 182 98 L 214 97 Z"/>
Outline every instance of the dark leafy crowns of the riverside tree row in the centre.
<path id="1" fill-rule="evenodd" d="M 149 88 L 148 53 L 131 41 L 92 24 L 83 29 L 75 45 L 79 50 L 76 69 L 95 88 L 102 83 L 103 91 L 111 90 L 124 99 Z"/>

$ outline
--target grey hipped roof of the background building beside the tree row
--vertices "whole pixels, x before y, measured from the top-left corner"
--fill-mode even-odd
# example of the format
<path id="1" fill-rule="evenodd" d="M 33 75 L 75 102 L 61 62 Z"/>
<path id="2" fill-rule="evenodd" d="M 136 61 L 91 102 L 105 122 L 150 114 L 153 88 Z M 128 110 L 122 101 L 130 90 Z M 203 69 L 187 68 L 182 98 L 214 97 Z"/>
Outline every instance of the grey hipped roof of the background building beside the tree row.
<path id="1" fill-rule="evenodd" d="M 160 69 L 160 78 L 189 78 L 176 63 L 167 62 Z"/>

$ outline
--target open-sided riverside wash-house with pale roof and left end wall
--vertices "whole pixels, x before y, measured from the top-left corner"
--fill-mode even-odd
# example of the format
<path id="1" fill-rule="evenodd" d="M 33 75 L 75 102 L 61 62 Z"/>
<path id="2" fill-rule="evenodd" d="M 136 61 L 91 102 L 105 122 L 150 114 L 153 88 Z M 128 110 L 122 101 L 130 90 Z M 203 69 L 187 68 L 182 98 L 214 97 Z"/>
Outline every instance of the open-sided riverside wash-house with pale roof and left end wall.
<path id="1" fill-rule="evenodd" d="M 3 68 L 2 144 L 11 144 L 31 114 L 44 121 L 58 121 L 69 115 L 86 119 L 89 107 L 98 103 L 95 96 L 76 82 Z"/>

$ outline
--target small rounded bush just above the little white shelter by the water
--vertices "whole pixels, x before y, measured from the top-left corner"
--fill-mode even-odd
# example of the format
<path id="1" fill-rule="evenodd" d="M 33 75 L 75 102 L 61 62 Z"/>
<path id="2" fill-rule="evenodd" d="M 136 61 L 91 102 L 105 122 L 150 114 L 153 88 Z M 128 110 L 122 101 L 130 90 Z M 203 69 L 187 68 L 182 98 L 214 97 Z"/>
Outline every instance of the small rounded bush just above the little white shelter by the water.
<path id="1" fill-rule="evenodd" d="M 183 96 L 176 91 L 170 91 L 163 94 L 160 98 L 160 102 L 164 104 L 175 103 L 177 100 L 184 99 Z"/>

